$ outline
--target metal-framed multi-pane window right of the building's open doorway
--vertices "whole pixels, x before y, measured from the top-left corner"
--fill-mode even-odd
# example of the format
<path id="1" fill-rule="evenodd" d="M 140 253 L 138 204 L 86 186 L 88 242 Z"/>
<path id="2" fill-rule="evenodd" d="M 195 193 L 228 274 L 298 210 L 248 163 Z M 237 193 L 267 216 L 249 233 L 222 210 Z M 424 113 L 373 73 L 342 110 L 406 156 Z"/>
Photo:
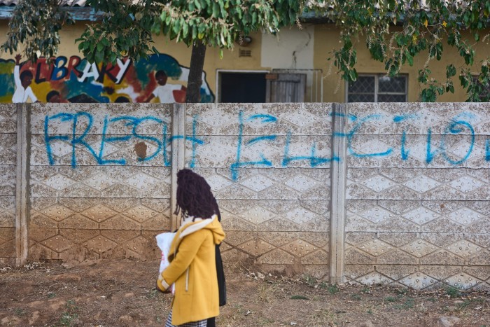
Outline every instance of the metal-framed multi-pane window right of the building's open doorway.
<path id="1" fill-rule="evenodd" d="M 407 76 L 359 75 L 347 85 L 347 102 L 407 102 Z"/>

